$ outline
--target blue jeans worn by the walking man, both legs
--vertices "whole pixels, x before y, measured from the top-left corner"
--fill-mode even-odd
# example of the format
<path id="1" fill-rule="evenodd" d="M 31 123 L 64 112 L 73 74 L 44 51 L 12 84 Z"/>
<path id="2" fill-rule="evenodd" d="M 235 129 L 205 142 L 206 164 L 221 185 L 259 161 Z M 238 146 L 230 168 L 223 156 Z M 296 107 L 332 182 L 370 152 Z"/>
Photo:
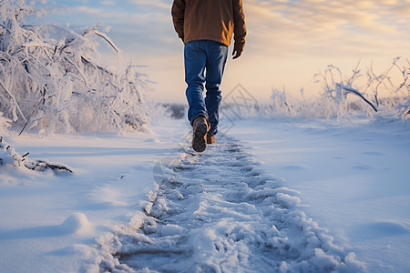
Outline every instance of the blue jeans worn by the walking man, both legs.
<path id="1" fill-rule="evenodd" d="M 188 100 L 188 119 L 192 125 L 198 116 L 210 122 L 210 136 L 218 132 L 220 112 L 220 82 L 228 57 L 228 46 L 210 40 L 191 41 L 185 44 L 185 82 Z M 207 89 L 205 99 L 203 90 Z"/>

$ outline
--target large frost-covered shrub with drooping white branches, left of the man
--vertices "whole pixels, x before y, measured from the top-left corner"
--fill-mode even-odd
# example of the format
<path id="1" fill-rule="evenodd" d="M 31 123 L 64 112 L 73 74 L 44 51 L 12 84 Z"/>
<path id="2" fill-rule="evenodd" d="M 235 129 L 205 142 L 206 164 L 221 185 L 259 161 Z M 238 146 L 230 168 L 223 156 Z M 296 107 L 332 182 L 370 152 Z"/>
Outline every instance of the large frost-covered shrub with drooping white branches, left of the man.
<path id="1" fill-rule="evenodd" d="M 139 130 L 149 123 L 143 77 L 130 65 L 112 71 L 98 63 L 98 41 L 119 55 L 99 25 L 81 32 L 28 25 L 34 7 L 23 0 L 0 5 L 0 111 L 20 133 Z"/>

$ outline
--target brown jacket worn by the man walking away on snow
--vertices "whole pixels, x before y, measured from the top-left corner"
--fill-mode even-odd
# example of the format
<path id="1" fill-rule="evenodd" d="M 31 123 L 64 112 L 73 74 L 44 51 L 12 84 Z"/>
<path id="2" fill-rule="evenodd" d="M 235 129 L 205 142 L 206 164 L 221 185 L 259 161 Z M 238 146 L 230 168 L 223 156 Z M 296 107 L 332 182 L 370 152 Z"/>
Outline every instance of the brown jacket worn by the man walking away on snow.
<path id="1" fill-rule="evenodd" d="M 242 0 L 174 0 L 172 19 L 179 38 L 184 43 L 213 40 L 235 49 L 245 45 L 245 15 Z"/>

